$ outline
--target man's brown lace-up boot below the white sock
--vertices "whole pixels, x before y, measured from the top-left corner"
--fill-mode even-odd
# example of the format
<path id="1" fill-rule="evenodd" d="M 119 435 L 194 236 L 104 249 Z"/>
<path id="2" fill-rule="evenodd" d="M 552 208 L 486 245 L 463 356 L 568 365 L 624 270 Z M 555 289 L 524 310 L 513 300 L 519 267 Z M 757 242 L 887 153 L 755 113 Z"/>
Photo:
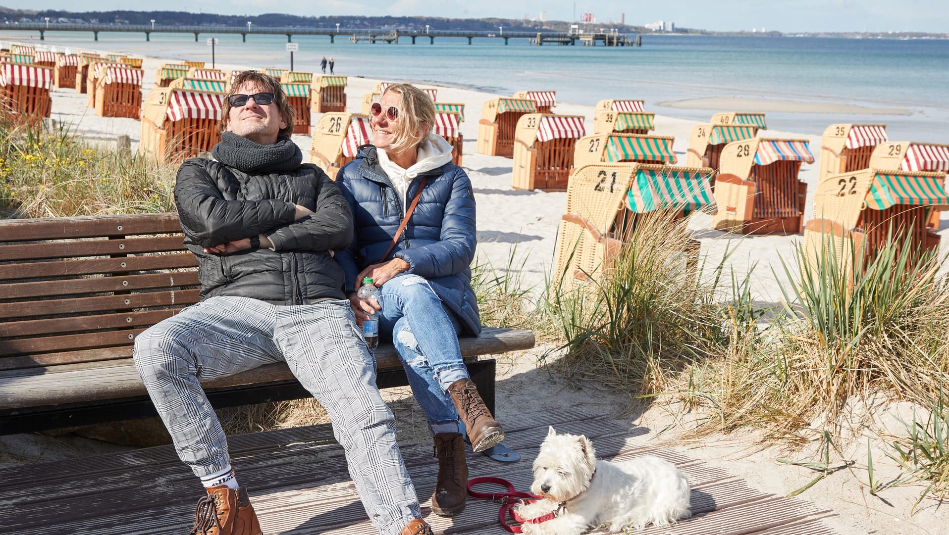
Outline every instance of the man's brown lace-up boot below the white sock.
<path id="1" fill-rule="evenodd" d="M 263 535 L 247 487 L 208 489 L 208 495 L 197 501 L 191 535 Z"/>

